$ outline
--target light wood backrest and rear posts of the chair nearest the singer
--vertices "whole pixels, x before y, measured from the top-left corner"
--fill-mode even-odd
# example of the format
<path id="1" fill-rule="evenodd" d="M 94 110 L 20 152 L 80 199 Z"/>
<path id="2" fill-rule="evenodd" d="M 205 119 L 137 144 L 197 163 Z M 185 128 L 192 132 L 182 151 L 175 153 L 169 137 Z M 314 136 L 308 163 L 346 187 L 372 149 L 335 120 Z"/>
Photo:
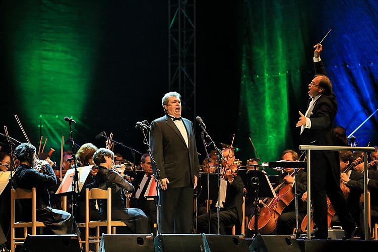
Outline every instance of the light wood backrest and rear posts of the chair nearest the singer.
<path id="1" fill-rule="evenodd" d="M 107 232 L 111 234 L 111 188 L 106 191 L 99 188 L 92 188 L 85 190 L 85 223 L 88 227 L 89 223 L 89 200 L 106 199 L 107 200 Z"/>

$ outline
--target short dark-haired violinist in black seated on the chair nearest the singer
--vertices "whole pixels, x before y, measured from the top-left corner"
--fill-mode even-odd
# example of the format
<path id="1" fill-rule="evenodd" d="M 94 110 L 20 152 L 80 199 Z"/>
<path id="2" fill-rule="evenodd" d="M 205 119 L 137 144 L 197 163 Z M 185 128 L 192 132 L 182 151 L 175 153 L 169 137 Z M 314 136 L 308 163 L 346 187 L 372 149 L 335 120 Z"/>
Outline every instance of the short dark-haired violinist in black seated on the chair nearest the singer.
<path id="1" fill-rule="evenodd" d="M 135 234 L 147 234 L 148 218 L 142 210 L 137 208 L 124 208 L 122 190 L 128 193 L 134 192 L 134 186 L 123 179 L 116 171 L 112 170 L 114 153 L 108 149 L 100 148 L 93 154 L 93 161 L 98 166 L 96 180 L 98 188 L 107 190 L 111 188 L 111 217 L 112 220 L 123 221 L 127 224 L 125 232 Z M 106 219 L 106 200 L 100 200 L 100 218 Z"/>

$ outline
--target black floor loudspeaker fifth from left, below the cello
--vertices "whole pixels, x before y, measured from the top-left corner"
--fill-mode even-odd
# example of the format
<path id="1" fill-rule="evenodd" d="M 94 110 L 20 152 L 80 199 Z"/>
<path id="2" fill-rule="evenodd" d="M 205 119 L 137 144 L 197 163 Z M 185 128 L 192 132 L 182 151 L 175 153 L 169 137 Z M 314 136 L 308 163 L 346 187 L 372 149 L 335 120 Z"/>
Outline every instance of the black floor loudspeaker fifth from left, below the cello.
<path id="1" fill-rule="evenodd" d="M 250 252 L 300 252 L 296 239 L 290 235 L 261 235 L 258 234 L 249 245 Z"/>

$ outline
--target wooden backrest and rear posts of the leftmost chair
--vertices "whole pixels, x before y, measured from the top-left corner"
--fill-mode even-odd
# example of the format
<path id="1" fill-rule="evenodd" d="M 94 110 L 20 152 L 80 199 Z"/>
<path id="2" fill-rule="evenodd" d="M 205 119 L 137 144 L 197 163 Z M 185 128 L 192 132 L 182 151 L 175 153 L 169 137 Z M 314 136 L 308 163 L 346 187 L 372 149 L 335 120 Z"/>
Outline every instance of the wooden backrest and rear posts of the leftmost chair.
<path id="1" fill-rule="evenodd" d="M 23 188 L 17 188 L 14 190 L 12 188 L 11 190 L 11 221 L 12 221 L 12 228 L 15 223 L 15 200 L 20 199 L 32 199 L 32 235 L 35 235 L 36 233 L 36 190 L 35 187 L 32 188 L 32 190 L 26 190 Z"/>

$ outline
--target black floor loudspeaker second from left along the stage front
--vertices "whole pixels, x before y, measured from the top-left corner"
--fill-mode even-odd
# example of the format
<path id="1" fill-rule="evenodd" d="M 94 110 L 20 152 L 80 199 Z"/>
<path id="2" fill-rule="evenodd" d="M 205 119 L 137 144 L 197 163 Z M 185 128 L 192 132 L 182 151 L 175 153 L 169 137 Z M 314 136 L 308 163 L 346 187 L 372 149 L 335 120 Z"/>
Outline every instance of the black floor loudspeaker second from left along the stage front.
<path id="1" fill-rule="evenodd" d="M 99 252 L 149 251 L 154 252 L 152 235 L 102 234 Z"/>

